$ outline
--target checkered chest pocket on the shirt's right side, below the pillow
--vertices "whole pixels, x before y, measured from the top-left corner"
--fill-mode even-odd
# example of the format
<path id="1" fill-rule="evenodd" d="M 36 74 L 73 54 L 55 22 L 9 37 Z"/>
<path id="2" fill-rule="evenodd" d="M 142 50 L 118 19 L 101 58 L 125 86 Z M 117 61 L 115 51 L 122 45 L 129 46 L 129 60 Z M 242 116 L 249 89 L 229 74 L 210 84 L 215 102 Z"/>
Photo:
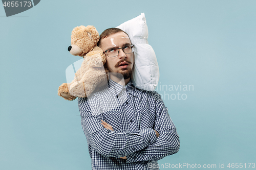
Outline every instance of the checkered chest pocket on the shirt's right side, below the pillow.
<path id="1" fill-rule="evenodd" d="M 153 128 L 156 120 L 155 109 L 142 107 L 138 109 L 141 123 L 140 129 Z"/>

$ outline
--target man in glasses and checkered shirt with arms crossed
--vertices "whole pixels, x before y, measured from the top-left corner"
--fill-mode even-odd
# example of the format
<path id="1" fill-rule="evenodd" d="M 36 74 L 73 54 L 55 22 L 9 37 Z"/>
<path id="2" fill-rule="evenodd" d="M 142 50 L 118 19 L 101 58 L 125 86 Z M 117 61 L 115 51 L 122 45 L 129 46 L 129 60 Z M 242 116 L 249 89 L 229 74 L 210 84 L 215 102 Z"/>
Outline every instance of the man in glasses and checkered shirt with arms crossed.
<path id="1" fill-rule="evenodd" d="M 98 45 L 107 58 L 108 85 L 78 98 L 92 169 L 159 169 L 157 160 L 180 147 L 168 109 L 156 91 L 133 86 L 134 45 L 125 32 L 106 29 Z"/>

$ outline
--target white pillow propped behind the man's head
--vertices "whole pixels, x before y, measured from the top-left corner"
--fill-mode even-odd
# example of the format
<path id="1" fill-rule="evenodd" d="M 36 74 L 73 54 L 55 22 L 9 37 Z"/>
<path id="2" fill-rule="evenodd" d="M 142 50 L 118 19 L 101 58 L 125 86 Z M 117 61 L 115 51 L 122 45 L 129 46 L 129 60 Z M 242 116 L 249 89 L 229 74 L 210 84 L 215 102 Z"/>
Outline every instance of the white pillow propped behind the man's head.
<path id="1" fill-rule="evenodd" d="M 159 81 L 159 67 L 156 54 L 147 42 L 145 14 L 141 13 L 116 28 L 126 32 L 135 46 L 132 83 L 139 89 L 154 91 Z"/>

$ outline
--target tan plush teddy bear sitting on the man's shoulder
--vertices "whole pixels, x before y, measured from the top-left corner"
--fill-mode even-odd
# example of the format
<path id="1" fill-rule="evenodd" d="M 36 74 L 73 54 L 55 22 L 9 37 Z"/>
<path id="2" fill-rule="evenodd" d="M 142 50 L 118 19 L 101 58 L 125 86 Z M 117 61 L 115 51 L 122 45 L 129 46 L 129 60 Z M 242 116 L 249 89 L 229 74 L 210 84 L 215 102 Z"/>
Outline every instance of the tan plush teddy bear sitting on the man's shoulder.
<path id="1" fill-rule="evenodd" d="M 72 101 L 76 97 L 86 98 L 94 90 L 108 81 L 108 69 L 104 66 L 106 56 L 97 46 L 99 33 L 94 26 L 79 26 L 71 33 L 71 46 L 68 51 L 74 56 L 83 57 L 81 67 L 76 71 L 71 83 L 63 83 L 58 88 L 58 95 Z"/>

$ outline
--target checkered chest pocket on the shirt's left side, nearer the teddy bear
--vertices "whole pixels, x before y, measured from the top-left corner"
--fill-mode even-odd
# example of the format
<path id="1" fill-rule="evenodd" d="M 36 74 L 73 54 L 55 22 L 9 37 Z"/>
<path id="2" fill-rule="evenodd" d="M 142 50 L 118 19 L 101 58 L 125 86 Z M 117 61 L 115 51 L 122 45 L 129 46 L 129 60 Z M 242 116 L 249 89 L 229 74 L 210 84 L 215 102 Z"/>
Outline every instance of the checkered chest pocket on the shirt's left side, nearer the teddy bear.
<path id="1" fill-rule="evenodd" d="M 121 126 L 121 113 L 117 111 L 107 111 L 103 113 L 103 118 L 106 123 L 112 126 L 114 131 L 118 131 Z"/>

